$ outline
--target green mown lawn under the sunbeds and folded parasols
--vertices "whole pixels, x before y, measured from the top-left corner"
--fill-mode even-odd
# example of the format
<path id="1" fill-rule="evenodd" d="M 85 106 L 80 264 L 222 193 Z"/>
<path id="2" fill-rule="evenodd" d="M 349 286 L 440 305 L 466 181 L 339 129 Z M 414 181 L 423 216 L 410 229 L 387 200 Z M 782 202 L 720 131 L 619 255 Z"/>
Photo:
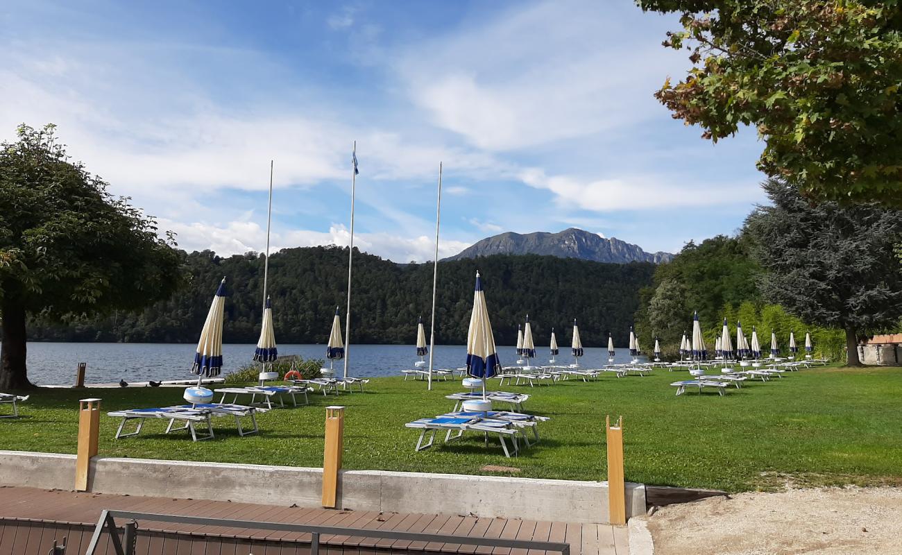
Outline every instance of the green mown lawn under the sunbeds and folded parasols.
<path id="1" fill-rule="evenodd" d="M 656 370 L 647 377 L 604 376 L 584 384 L 505 387 L 533 394 L 528 412 L 547 415 L 542 441 L 506 459 L 480 439 L 413 450 L 418 432 L 404 423 L 451 409 L 456 383 L 426 384 L 380 378 L 367 393 L 263 414 L 259 436 L 240 438 L 228 419 L 216 419 L 216 439 L 192 442 L 165 435 L 148 421 L 137 438 L 114 440 L 116 419 L 106 411 L 165 406 L 180 389 L 47 389 L 32 393 L 23 418 L 0 421 L 0 449 L 74 453 L 78 399 L 100 397 L 100 455 L 318 467 L 323 458 L 323 408 L 347 407 L 345 468 L 485 473 L 484 465 L 520 468 L 518 476 L 600 480 L 605 476 L 604 415 L 623 416 L 628 480 L 728 491 L 769 488 L 786 476 L 805 484 L 902 484 L 902 369 L 822 368 L 769 383 L 715 393 L 674 396 L 668 384 L 686 372 Z M 8 405 L 7 405 L 8 406 Z"/>

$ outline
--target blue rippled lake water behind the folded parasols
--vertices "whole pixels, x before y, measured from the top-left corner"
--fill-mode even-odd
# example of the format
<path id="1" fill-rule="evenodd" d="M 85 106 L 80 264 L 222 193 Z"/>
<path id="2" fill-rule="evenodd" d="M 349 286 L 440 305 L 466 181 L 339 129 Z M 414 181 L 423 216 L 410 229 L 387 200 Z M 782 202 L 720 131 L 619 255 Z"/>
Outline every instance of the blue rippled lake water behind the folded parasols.
<path id="1" fill-rule="evenodd" d="M 227 344 L 223 346 L 223 374 L 252 362 L 254 345 Z M 174 343 L 29 343 L 28 377 L 34 384 L 71 384 L 75 380 L 76 365 L 87 363 L 87 384 L 118 382 L 146 382 L 148 380 L 183 380 L 194 361 L 196 345 Z M 502 364 L 514 365 L 515 347 L 499 347 Z M 587 368 L 608 364 L 606 348 L 587 347 L 580 365 Z M 548 363 L 548 348 L 538 348 L 533 364 Z M 573 362 L 570 349 L 560 349 L 557 364 Z M 325 345 L 280 345 L 280 355 L 300 355 L 304 358 L 326 358 Z M 352 345 L 348 375 L 400 375 L 401 370 L 413 367 L 419 360 L 412 345 Z M 428 360 L 428 357 L 427 357 Z M 464 345 L 437 345 L 436 368 L 457 368 L 465 365 Z M 630 362 L 627 349 L 618 349 L 615 362 Z M 327 363 L 328 364 L 328 363 Z M 336 361 L 340 375 L 344 361 Z"/>

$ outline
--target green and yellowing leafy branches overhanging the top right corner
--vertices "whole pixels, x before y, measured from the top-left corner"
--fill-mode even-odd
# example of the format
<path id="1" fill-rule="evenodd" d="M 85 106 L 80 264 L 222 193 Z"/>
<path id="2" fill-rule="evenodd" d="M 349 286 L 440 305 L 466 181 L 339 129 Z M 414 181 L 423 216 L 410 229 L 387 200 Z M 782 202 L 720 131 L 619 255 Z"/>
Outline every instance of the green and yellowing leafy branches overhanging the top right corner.
<path id="1" fill-rule="evenodd" d="M 717 141 L 756 125 L 759 168 L 810 199 L 902 206 L 896 0 L 638 0 L 682 13 L 664 45 L 694 67 L 656 97 Z"/>

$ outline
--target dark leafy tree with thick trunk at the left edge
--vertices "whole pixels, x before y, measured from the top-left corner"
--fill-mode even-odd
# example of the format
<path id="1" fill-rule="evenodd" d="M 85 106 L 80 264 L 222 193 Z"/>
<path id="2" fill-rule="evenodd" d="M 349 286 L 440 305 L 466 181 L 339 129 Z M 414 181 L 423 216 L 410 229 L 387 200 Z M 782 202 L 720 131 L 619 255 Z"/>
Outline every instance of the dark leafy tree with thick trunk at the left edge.
<path id="1" fill-rule="evenodd" d="M 69 162 L 53 125 L 0 145 L 0 390 L 30 387 L 28 314 L 42 319 L 137 310 L 179 283 L 170 234 L 106 182 Z"/>

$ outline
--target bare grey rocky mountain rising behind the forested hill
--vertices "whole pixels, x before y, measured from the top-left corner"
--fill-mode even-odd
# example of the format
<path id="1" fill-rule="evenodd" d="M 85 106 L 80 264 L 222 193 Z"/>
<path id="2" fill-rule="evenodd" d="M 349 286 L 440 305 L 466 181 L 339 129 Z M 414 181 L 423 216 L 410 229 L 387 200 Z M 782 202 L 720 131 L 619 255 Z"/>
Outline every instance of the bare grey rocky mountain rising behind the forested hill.
<path id="1" fill-rule="evenodd" d="M 486 237 L 446 260 L 491 256 L 492 254 L 546 254 L 561 258 L 580 258 L 595 262 L 626 264 L 630 262 L 670 262 L 673 254 L 647 253 L 639 245 L 631 245 L 616 237 L 606 238 L 578 227 L 548 233 L 537 231 L 519 234 L 512 231 Z"/>

